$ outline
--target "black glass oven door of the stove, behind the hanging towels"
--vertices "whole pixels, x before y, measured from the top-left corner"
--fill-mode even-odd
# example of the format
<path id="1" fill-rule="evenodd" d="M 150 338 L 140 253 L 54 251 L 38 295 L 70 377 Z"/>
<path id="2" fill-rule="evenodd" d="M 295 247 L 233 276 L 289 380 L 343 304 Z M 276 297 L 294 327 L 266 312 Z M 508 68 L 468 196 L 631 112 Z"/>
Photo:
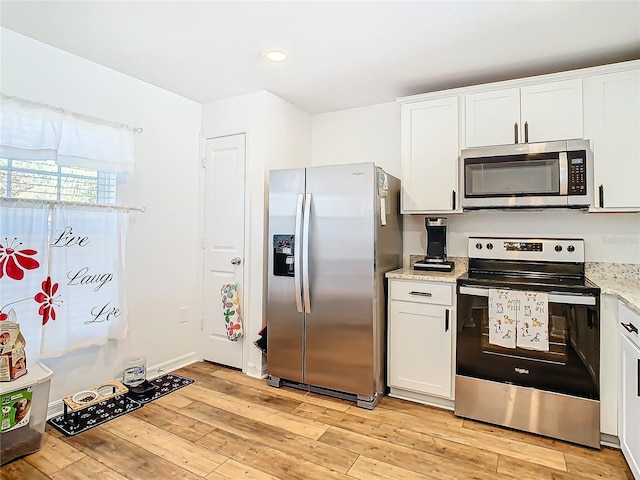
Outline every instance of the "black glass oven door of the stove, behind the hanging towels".
<path id="1" fill-rule="evenodd" d="M 457 302 L 457 375 L 599 400 L 598 296 L 549 292 L 548 351 L 489 342 L 489 288 L 459 283 Z"/>

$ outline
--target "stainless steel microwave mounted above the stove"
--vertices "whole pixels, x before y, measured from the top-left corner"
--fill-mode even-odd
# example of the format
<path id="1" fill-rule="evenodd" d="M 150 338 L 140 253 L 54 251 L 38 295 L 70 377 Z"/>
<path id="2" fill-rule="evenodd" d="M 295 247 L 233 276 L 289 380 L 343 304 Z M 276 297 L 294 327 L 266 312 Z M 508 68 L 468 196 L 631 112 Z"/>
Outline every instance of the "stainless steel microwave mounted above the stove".
<path id="1" fill-rule="evenodd" d="M 588 140 L 518 143 L 462 151 L 461 206 L 587 208 L 593 200 Z"/>

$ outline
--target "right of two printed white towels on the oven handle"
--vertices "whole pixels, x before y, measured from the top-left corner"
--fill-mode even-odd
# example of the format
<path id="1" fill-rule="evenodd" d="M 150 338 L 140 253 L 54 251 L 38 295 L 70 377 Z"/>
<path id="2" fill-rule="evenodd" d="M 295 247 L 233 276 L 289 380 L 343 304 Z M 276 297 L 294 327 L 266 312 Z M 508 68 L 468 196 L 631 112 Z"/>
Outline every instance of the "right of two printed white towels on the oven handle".
<path id="1" fill-rule="evenodd" d="M 549 351 L 549 295 L 517 292 L 519 348 Z"/>

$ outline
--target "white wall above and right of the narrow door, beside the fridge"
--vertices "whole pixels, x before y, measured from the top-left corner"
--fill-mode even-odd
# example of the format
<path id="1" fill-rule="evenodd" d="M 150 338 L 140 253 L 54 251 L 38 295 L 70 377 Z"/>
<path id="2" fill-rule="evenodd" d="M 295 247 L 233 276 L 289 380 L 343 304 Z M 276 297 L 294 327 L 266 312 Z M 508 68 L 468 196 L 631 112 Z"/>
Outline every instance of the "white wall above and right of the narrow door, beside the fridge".
<path id="1" fill-rule="evenodd" d="M 253 342 L 266 311 L 268 173 L 311 163 L 311 120 L 307 113 L 267 91 L 203 105 L 203 138 L 236 133 L 247 135 L 243 371 L 259 377 L 264 373 L 264 358 Z"/>

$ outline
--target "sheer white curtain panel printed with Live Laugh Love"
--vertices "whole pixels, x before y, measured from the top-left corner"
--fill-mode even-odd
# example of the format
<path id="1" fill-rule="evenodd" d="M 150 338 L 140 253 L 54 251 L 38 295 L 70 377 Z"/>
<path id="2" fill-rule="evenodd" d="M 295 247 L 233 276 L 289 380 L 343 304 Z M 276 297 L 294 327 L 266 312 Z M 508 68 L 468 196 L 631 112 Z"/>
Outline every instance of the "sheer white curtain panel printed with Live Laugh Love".
<path id="1" fill-rule="evenodd" d="M 43 297 L 54 297 L 55 319 L 43 312 L 41 358 L 126 338 L 127 220 L 124 211 L 54 207 Z"/>

